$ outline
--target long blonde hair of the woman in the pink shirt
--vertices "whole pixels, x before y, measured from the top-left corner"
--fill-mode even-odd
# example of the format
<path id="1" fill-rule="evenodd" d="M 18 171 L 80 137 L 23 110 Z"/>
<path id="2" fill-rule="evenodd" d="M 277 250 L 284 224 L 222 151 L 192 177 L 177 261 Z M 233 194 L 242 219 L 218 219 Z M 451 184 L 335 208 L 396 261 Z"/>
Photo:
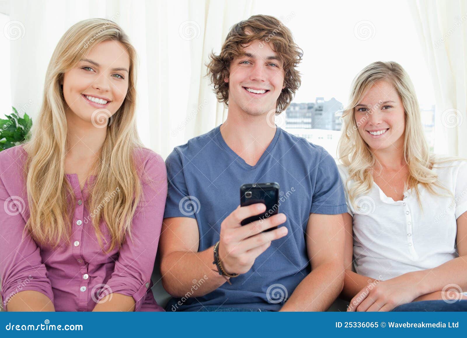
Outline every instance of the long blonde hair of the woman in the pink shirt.
<path id="1" fill-rule="evenodd" d="M 120 248 L 142 194 L 142 182 L 134 156 L 143 145 L 135 122 L 136 51 L 127 35 L 114 22 L 89 19 L 76 23 L 62 36 L 50 58 L 42 107 L 28 141 L 25 178 L 30 217 L 26 229 L 40 244 L 56 247 L 71 237 L 75 194 L 64 171 L 67 120 L 60 86 L 64 73 L 74 68 L 87 50 L 103 41 L 118 41 L 129 54 L 127 95 L 107 126 L 107 135 L 92 171 L 97 173 L 87 208 L 99 244 L 104 238 L 99 222 L 104 220 L 111 238 L 107 250 Z M 109 197 L 109 194 L 111 197 Z M 67 202 L 67 196 L 71 199 Z"/>

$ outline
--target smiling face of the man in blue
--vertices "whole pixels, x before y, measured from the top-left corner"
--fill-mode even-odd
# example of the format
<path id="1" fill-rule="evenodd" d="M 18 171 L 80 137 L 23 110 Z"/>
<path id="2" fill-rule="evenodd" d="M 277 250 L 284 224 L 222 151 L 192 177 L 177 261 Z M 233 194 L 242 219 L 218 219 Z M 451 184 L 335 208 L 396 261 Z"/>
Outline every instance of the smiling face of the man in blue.
<path id="1" fill-rule="evenodd" d="M 230 63 L 229 108 L 262 115 L 276 108 L 284 85 L 283 62 L 269 43 L 255 40 Z"/>

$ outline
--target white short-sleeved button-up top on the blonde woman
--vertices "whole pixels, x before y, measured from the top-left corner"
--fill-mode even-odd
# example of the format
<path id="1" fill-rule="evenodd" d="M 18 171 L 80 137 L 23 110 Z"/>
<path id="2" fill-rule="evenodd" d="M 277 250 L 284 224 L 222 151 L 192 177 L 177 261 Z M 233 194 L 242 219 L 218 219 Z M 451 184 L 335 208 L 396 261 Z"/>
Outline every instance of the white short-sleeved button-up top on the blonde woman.
<path id="1" fill-rule="evenodd" d="M 354 208 L 345 186 L 347 211 L 353 217 L 354 267 L 361 275 L 387 280 L 403 273 L 439 266 L 458 257 L 457 218 L 467 211 L 467 162 L 452 161 L 436 165 L 440 183 L 453 195 L 430 194 L 419 185 L 422 208 L 412 190 L 402 201 L 386 196 L 373 187 L 356 199 Z M 339 165 L 342 182 L 348 172 Z M 444 196 L 443 196 L 444 195 Z"/>

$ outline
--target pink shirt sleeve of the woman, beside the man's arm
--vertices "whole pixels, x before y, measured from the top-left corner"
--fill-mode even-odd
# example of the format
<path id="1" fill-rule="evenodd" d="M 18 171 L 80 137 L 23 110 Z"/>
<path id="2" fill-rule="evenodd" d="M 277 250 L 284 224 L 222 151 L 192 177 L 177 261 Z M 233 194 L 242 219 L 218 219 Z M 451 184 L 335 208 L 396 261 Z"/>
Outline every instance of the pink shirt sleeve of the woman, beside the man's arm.
<path id="1" fill-rule="evenodd" d="M 144 166 L 152 182 L 143 184 L 142 199 L 132 221 L 131 238 L 127 236 L 120 248 L 114 271 L 107 281 L 108 291 L 134 299 L 138 311 L 151 292 L 151 274 L 161 234 L 164 204 L 167 196 L 167 173 L 163 159 L 153 156 Z"/>

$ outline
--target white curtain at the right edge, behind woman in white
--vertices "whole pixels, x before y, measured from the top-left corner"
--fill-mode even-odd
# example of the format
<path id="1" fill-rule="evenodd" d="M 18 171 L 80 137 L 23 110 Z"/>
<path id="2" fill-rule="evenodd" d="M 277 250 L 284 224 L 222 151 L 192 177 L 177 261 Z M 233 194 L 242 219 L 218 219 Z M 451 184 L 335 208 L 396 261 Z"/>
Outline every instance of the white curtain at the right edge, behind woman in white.
<path id="1" fill-rule="evenodd" d="M 467 1 L 411 0 L 410 7 L 435 90 L 435 152 L 465 158 Z"/>

